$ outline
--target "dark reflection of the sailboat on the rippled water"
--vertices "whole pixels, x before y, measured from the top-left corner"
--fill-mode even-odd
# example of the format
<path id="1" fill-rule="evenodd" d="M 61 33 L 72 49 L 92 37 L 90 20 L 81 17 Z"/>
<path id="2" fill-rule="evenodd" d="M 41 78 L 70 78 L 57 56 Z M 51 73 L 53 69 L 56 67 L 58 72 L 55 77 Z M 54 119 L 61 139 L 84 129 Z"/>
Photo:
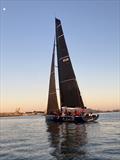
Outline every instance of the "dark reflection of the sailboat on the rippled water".
<path id="1" fill-rule="evenodd" d="M 85 159 L 87 133 L 84 124 L 47 123 L 51 155 L 59 160 Z"/>

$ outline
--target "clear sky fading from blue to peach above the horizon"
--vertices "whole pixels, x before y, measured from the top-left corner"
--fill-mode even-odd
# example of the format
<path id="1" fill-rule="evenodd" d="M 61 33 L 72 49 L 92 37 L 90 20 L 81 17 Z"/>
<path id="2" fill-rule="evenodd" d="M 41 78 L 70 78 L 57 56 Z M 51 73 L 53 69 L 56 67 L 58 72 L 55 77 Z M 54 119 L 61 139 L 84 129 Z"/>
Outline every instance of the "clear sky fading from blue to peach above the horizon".
<path id="1" fill-rule="evenodd" d="M 1 0 L 0 112 L 46 110 L 55 17 L 85 106 L 118 109 L 119 0 Z"/>

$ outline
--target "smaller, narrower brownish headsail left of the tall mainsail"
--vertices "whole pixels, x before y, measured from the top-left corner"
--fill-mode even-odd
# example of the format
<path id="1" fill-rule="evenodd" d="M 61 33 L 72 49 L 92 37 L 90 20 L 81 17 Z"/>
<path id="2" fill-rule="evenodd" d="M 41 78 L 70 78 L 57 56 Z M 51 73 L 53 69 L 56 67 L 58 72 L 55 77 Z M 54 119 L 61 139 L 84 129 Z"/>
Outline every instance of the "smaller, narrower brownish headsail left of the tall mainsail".
<path id="1" fill-rule="evenodd" d="M 54 67 L 54 58 L 55 57 L 55 43 L 53 47 L 52 63 L 51 63 L 51 72 L 50 72 L 50 82 L 49 82 L 49 93 L 48 93 L 48 104 L 47 104 L 47 114 L 57 112 L 58 101 L 56 95 L 56 86 L 55 86 L 55 67 Z"/>

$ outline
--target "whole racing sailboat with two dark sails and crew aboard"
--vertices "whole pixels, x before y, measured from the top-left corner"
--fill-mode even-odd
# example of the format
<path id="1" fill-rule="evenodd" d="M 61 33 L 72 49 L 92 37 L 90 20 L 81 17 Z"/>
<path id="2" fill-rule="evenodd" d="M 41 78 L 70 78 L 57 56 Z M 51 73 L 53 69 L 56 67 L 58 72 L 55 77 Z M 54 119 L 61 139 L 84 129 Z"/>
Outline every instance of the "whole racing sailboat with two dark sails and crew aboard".
<path id="1" fill-rule="evenodd" d="M 95 121 L 99 115 L 88 114 L 67 49 L 61 21 L 55 18 L 56 41 L 54 40 L 50 71 L 46 120 L 55 122 Z M 55 44 L 56 43 L 56 44 Z M 55 84 L 55 48 L 57 52 L 60 109 Z"/>

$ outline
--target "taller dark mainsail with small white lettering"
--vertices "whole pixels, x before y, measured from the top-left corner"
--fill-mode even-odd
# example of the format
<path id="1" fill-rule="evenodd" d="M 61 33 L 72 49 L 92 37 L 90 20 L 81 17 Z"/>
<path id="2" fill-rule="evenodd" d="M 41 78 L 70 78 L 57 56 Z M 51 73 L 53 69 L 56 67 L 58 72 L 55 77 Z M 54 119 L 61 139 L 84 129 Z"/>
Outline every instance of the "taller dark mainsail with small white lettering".
<path id="1" fill-rule="evenodd" d="M 84 103 L 80 95 L 66 46 L 61 21 L 59 19 L 55 19 L 55 24 L 61 107 L 66 106 L 84 108 Z"/>

